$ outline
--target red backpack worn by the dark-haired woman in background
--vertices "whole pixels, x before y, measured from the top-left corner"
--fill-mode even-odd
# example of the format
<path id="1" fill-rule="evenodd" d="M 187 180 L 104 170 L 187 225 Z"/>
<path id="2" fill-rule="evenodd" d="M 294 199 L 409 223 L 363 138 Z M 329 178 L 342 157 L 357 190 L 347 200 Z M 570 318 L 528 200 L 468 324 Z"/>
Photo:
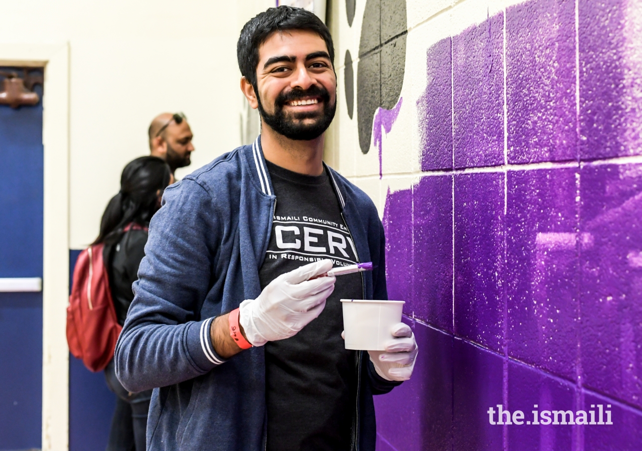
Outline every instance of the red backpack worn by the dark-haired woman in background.
<path id="1" fill-rule="evenodd" d="M 69 350 L 94 372 L 104 370 L 114 357 L 122 330 L 112 302 L 103 248 L 103 244 L 89 246 L 78 256 L 67 307 Z"/>

